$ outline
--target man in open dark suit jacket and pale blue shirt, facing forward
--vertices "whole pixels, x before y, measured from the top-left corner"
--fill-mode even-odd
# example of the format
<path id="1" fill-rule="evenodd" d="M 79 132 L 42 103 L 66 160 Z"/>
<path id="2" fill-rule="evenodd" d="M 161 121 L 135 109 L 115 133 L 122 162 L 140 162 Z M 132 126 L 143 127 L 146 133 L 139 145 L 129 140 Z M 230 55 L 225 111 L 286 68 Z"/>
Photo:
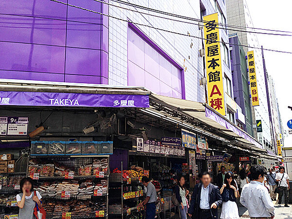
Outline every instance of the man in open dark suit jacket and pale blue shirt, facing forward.
<path id="1" fill-rule="evenodd" d="M 201 182 L 195 185 L 188 214 L 193 219 L 218 219 L 218 207 L 222 197 L 218 186 L 211 183 L 210 173 L 201 175 Z"/>

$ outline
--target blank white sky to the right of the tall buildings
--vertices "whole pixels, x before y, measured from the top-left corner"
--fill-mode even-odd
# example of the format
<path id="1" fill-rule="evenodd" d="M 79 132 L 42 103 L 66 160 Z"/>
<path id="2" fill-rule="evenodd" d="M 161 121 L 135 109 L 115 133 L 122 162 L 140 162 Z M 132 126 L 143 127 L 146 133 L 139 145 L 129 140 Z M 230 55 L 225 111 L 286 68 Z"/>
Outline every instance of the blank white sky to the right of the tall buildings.
<path id="1" fill-rule="evenodd" d="M 292 32 L 292 0 L 246 0 L 254 27 Z M 292 35 L 292 33 L 291 33 Z M 266 49 L 292 52 L 292 37 L 257 35 L 258 42 Z M 292 54 L 264 51 L 267 72 L 275 83 L 276 96 L 283 128 L 292 119 Z M 288 132 L 288 131 L 287 131 Z M 292 134 L 284 140 L 284 146 L 292 146 Z"/>

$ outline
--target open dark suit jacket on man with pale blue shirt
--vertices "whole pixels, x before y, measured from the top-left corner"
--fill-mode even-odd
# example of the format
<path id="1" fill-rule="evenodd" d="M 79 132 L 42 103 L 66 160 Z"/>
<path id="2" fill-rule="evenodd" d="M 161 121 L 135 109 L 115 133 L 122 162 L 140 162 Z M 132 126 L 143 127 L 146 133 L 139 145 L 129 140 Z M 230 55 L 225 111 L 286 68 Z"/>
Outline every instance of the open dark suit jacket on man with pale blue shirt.
<path id="1" fill-rule="evenodd" d="M 188 213 L 192 214 L 193 219 L 199 218 L 199 209 L 200 209 L 200 202 L 201 202 L 201 189 L 202 189 L 202 183 L 198 183 L 195 185 L 194 192 L 192 194 L 192 200 L 190 207 L 188 209 Z M 218 219 L 218 207 L 222 204 L 222 197 L 220 195 L 220 191 L 218 186 L 213 185 L 210 183 L 209 187 L 209 206 L 211 208 L 211 205 L 213 203 L 217 204 L 217 208 L 210 209 L 211 215 L 213 219 Z"/>

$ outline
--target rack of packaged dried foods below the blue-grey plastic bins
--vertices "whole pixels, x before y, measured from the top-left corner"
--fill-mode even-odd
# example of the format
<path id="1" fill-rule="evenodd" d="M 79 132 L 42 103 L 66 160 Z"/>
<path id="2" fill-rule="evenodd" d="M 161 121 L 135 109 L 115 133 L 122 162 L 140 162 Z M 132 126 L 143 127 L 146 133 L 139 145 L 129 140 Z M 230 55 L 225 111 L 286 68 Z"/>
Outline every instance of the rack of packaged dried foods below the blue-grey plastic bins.
<path id="1" fill-rule="evenodd" d="M 32 155 L 27 176 L 36 181 L 47 219 L 108 218 L 109 155 Z"/>

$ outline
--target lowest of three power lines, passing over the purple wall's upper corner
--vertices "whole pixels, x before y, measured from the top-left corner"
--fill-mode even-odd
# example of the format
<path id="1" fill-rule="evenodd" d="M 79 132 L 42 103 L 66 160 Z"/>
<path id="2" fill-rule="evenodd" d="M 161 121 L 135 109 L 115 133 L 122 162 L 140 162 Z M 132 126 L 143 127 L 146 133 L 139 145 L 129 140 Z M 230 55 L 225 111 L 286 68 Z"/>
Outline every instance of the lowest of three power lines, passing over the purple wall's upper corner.
<path id="1" fill-rule="evenodd" d="M 87 9 L 87 8 L 83 8 L 83 7 L 80 7 L 80 6 L 76 6 L 76 5 L 72 5 L 72 4 L 68 4 L 68 3 L 65 3 L 65 2 L 62 2 L 62 1 L 58 1 L 58 0 L 51 0 L 51 1 L 55 1 L 55 2 L 57 2 L 57 3 L 65 4 L 65 5 L 68 5 L 68 6 L 70 6 L 70 7 L 74 7 L 74 8 L 82 9 L 82 10 L 89 11 L 89 12 L 92 12 L 92 13 L 95 13 L 95 14 L 99 14 L 99 15 L 107 16 L 107 17 L 109 17 L 109 18 L 114 18 L 114 19 L 118 19 L 118 20 L 125 21 L 125 22 L 128 22 L 128 23 L 132 23 L 132 24 L 136 24 L 136 25 L 141 25 L 141 26 L 145 26 L 145 27 L 153 28 L 153 29 L 155 29 L 155 30 L 164 31 L 164 32 L 171 33 L 171 34 L 178 34 L 178 35 L 185 36 L 185 37 L 194 37 L 194 38 L 198 38 L 198 39 L 208 40 L 208 39 L 206 39 L 206 38 L 202 38 L 202 37 L 197 37 L 197 36 L 193 36 L 193 35 L 177 33 L 177 32 L 173 32 L 173 31 L 165 30 L 165 29 L 162 29 L 162 28 L 153 27 L 153 26 L 150 26 L 150 25 L 147 25 L 147 24 L 141 24 L 141 23 L 137 23 L 137 22 L 130 21 L 130 20 L 125 20 L 125 19 L 122 19 L 122 18 L 116 18 L 116 17 L 113 17 L 113 16 L 111 16 L 111 15 L 106 15 L 106 14 L 103 14 L 103 13 L 100 13 L 100 12 L 97 12 L 97 11 L 93 11 L 93 10 L 90 10 L 90 9 Z M 212 40 L 212 41 L 213 41 L 213 42 L 219 42 L 219 43 L 225 43 L 225 44 L 229 44 L 229 45 L 242 46 L 242 47 L 247 47 L 247 48 L 252 48 L 252 49 L 259 49 L 259 50 L 266 50 L 266 51 L 277 52 L 277 53 L 287 53 L 287 54 L 292 54 L 292 52 L 288 52 L 288 51 L 280 51 L 280 50 L 264 49 L 264 48 L 259 48 L 259 47 L 252 47 L 252 46 L 247 46 L 247 45 L 242 45 L 242 44 L 236 44 L 236 43 L 230 43 L 230 42 L 222 42 L 222 41 L 217 41 L 217 40 Z"/>

